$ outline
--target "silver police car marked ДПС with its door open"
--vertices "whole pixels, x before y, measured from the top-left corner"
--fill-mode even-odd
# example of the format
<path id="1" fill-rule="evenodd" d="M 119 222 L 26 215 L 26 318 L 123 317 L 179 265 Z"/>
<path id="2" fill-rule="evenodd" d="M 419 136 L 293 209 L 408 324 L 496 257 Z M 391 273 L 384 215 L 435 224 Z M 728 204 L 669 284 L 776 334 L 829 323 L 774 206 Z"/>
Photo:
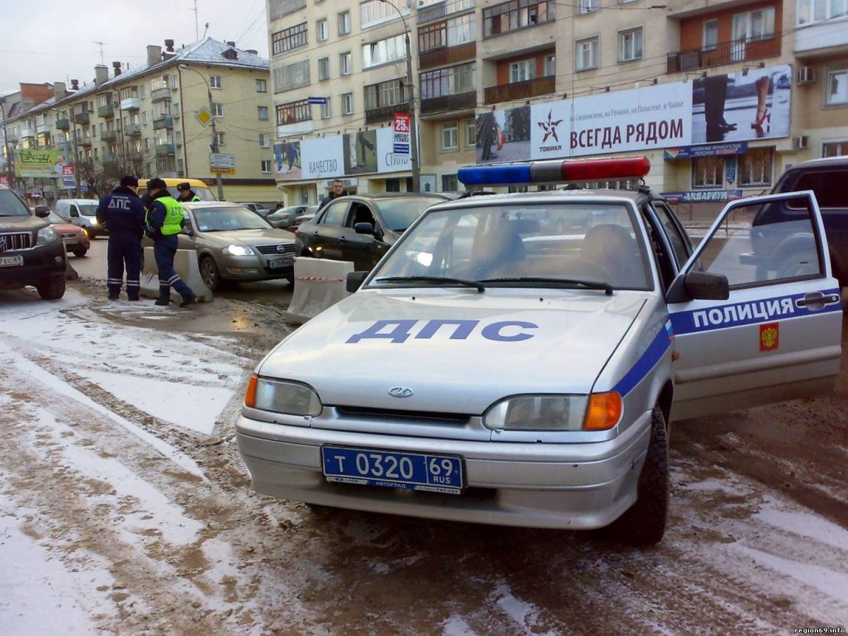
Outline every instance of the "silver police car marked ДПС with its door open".
<path id="1" fill-rule="evenodd" d="M 644 158 L 538 161 L 462 169 L 460 181 L 649 169 Z M 769 254 L 773 268 L 750 264 L 757 211 L 788 199 L 804 211 L 794 247 Z M 839 289 L 812 192 L 734 201 L 695 249 L 644 186 L 460 198 L 427 209 L 348 286 L 248 384 L 237 442 L 261 493 L 462 522 L 612 525 L 654 544 L 668 422 L 828 390 L 839 371 Z"/>

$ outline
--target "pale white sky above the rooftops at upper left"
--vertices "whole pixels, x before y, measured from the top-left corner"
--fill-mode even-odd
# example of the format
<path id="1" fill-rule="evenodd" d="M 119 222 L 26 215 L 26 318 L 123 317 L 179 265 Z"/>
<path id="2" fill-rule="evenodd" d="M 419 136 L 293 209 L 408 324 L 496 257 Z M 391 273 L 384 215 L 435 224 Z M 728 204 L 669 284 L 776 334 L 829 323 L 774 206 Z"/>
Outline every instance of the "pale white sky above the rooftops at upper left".
<path id="1" fill-rule="evenodd" d="M 146 64 L 148 44 L 195 42 L 195 4 L 200 37 L 209 22 L 208 36 L 268 57 L 265 0 L 0 0 L 0 95 L 20 82 L 92 81 L 101 63 L 96 42 L 109 75 L 112 62 Z"/>

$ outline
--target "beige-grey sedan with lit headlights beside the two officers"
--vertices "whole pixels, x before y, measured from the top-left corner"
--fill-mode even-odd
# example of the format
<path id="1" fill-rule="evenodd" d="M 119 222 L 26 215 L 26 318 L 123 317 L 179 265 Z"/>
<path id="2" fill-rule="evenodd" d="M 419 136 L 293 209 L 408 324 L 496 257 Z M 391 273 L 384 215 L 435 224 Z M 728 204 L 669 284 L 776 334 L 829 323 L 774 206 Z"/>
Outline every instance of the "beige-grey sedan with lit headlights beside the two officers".
<path id="1" fill-rule="evenodd" d="M 279 230 L 240 204 L 225 201 L 184 203 L 186 225 L 179 249 L 198 253 L 198 266 L 209 289 L 221 282 L 269 281 L 294 284 L 294 236 Z"/>

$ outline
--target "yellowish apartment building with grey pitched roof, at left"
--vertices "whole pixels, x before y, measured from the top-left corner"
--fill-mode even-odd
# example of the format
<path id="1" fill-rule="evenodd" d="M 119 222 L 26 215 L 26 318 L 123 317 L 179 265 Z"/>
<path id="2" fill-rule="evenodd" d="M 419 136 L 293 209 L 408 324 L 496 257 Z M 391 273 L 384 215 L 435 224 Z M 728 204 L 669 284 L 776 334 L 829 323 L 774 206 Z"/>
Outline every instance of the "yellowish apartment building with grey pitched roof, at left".
<path id="1" fill-rule="evenodd" d="M 31 99 L 10 113 L 3 126 L 9 151 L 57 151 L 58 162 L 75 164 L 84 190 L 98 175 L 132 172 L 195 177 L 215 192 L 211 111 L 218 153 L 235 162 L 234 168 L 218 168 L 224 198 L 276 201 L 268 61 L 210 37 L 177 49 L 171 40 L 164 49 L 147 48 L 144 66 L 124 69 L 115 62 L 110 75 L 98 65 L 94 81 L 71 81 L 70 87 L 56 82 L 48 97 L 39 94 L 37 103 Z M 74 187 L 73 178 L 23 177 L 21 183 L 30 196 L 45 199 L 53 198 L 54 189 L 64 194 Z"/>

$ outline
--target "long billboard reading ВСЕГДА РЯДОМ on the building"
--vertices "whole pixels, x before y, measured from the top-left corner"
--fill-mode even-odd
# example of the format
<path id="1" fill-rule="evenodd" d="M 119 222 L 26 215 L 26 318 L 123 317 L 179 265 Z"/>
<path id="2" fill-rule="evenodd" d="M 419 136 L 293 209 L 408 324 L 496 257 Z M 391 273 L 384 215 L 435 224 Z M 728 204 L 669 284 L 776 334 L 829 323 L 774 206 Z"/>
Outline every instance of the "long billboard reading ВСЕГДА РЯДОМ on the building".
<path id="1" fill-rule="evenodd" d="M 477 115 L 477 163 L 789 137 L 788 65 Z"/>

